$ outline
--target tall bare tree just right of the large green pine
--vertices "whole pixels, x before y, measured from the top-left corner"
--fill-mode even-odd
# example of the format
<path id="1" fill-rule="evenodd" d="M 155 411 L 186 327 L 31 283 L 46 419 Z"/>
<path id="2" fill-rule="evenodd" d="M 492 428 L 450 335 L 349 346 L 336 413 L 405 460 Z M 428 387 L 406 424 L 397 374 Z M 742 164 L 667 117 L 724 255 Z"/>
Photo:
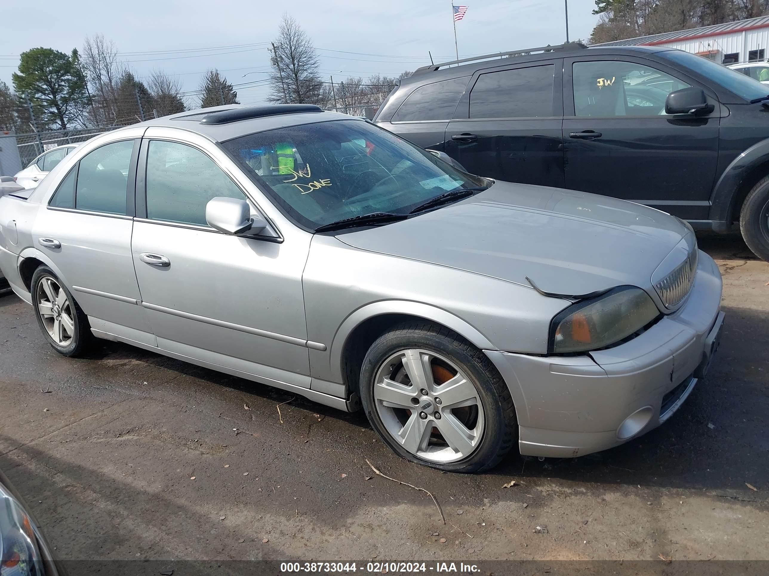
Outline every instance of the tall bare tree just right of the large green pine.
<path id="1" fill-rule="evenodd" d="M 115 42 L 97 34 L 85 38 L 80 62 L 88 79 L 93 105 L 89 111 L 92 124 L 109 124 L 118 114 L 118 85 L 128 67 L 118 59 Z"/>

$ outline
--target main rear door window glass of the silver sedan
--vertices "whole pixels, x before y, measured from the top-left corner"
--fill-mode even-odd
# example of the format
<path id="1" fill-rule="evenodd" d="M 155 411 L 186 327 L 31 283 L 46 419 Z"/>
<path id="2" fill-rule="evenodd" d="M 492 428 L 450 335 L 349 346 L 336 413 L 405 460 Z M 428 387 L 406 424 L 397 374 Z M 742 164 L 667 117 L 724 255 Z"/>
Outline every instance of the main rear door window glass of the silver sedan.
<path id="1" fill-rule="evenodd" d="M 128 168 L 134 141 L 113 142 L 82 157 L 75 185 L 75 207 L 125 214 Z"/>

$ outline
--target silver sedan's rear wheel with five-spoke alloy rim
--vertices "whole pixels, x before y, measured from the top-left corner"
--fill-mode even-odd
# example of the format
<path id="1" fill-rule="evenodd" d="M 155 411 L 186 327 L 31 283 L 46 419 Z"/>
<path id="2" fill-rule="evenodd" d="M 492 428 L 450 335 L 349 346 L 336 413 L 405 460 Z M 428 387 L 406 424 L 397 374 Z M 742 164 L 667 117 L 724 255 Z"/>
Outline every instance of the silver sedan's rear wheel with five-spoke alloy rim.
<path id="1" fill-rule="evenodd" d="M 48 266 L 32 275 L 32 307 L 43 335 L 62 356 L 78 356 L 92 342 L 88 316 Z"/>

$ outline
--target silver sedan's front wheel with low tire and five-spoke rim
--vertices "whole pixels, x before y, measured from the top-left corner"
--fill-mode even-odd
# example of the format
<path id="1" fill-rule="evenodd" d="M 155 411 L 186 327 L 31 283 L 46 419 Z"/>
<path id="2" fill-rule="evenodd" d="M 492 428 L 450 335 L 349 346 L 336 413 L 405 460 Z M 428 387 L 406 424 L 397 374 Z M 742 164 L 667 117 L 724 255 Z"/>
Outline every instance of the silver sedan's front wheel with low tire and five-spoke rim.
<path id="1" fill-rule="evenodd" d="M 493 468 L 518 438 L 507 385 L 458 334 L 406 323 L 380 336 L 361 369 L 369 422 L 402 457 L 447 472 Z"/>

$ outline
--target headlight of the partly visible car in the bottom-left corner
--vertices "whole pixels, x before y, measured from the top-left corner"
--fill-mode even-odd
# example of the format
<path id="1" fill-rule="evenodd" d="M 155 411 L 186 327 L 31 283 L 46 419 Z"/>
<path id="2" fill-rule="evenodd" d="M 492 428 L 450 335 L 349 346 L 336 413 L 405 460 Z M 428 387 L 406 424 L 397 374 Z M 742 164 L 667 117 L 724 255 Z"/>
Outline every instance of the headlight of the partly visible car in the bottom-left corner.
<path id="1" fill-rule="evenodd" d="M 0 576 L 42 576 L 45 564 L 35 528 L 13 495 L 0 484 Z"/>

